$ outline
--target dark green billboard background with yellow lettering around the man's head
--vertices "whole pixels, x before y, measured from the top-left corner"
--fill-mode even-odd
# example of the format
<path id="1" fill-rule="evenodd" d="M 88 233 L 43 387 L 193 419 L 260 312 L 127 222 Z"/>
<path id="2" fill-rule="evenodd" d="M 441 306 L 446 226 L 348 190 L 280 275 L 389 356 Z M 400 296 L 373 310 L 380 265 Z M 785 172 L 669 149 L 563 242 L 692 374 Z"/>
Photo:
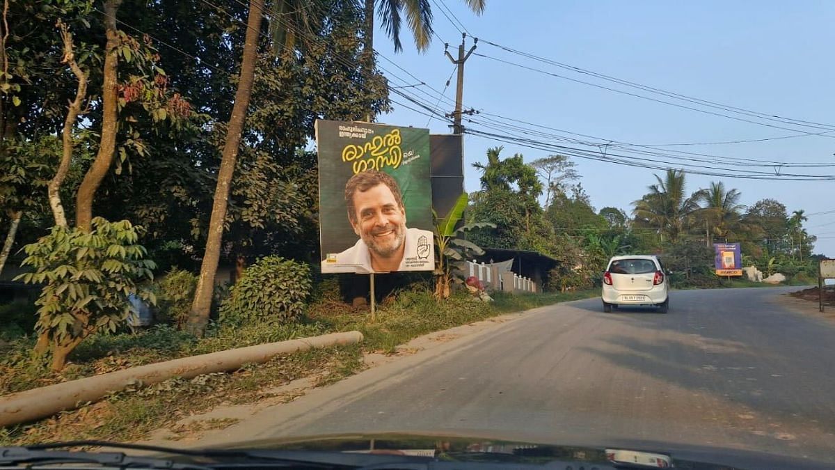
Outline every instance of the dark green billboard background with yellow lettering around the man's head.
<path id="1" fill-rule="evenodd" d="M 433 230 L 428 129 L 316 120 L 316 147 L 322 258 L 359 239 L 345 206 L 345 183 L 355 171 L 377 169 L 391 175 L 402 192 L 407 227 Z"/>

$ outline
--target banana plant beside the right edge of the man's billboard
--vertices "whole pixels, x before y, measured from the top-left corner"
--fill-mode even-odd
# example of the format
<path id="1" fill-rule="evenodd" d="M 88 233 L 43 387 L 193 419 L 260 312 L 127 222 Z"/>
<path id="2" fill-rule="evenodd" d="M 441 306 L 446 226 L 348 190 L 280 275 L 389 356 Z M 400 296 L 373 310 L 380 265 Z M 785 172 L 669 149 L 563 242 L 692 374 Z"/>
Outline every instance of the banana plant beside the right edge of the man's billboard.
<path id="1" fill-rule="evenodd" d="M 480 227 L 496 227 L 491 222 L 473 222 L 456 228 L 461 222 L 464 210 L 467 208 L 467 193 L 458 197 L 458 201 L 450 209 L 447 217 L 439 218 L 432 210 L 435 226 L 435 297 L 447 299 L 450 284 L 455 279 L 457 271 L 463 272 L 463 263 L 467 255 L 482 255 L 484 250 L 463 236 L 464 232 Z"/>

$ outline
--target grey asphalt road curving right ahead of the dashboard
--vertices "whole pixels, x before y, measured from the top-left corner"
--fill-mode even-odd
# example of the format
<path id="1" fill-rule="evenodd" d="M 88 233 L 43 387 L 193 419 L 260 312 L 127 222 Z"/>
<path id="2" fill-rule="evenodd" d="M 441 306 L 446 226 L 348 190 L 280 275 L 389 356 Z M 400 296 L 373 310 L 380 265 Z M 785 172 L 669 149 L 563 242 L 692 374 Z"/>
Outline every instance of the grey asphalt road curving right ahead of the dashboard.
<path id="1" fill-rule="evenodd" d="M 835 322 L 789 311 L 776 299 L 789 290 L 675 291 L 669 314 L 604 314 L 600 299 L 544 307 L 312 391 L 221 439 L 432 432 L 835 462 Z"/>

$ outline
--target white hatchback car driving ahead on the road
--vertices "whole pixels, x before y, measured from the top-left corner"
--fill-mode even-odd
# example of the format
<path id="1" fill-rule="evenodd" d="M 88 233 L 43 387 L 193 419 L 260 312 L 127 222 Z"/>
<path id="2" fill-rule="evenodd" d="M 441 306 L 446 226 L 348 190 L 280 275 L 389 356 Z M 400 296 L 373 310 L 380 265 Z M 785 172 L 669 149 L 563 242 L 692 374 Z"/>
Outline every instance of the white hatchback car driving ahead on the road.
<path id="1" fill-rule="evenodd" d="M 655 305 L 662 314 L 670 308 L 670 282 L 664 265 L 652 255 L 615 256 L 603 273 L 603 311 L 619 305 Z"/>

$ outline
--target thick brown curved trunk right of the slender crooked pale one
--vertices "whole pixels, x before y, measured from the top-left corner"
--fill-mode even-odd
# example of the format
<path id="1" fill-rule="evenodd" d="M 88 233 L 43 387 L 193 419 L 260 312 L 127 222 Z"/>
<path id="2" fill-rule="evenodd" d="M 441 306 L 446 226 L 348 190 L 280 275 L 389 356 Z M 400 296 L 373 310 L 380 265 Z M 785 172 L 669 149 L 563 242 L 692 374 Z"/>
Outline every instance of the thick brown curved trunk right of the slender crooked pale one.
<path id="1" fill-rule="evenodd" d="M 116 128 L 117 128 L 117 65 L 119 57 L 116 48 L 119 47 L 119 33 L 116 29 L 116 11 L 122 0 L 107 0 L 104 2 L 104 28 L 107 35 L 107 44 L 104 49 L 104 84 L 102 85 L 102 129 L 101 140 L 99 141 L 99 153 L 90 166 L 87 174 L 84 175 L 81 186 L 78 187 L 75 207 L 75 226 L 89 232 L 93 221 L 93 199 L 96 190 L 99 189 L 104 176 L 110 170 L 113 163 L 113 155 L 116 149 Z"/>

